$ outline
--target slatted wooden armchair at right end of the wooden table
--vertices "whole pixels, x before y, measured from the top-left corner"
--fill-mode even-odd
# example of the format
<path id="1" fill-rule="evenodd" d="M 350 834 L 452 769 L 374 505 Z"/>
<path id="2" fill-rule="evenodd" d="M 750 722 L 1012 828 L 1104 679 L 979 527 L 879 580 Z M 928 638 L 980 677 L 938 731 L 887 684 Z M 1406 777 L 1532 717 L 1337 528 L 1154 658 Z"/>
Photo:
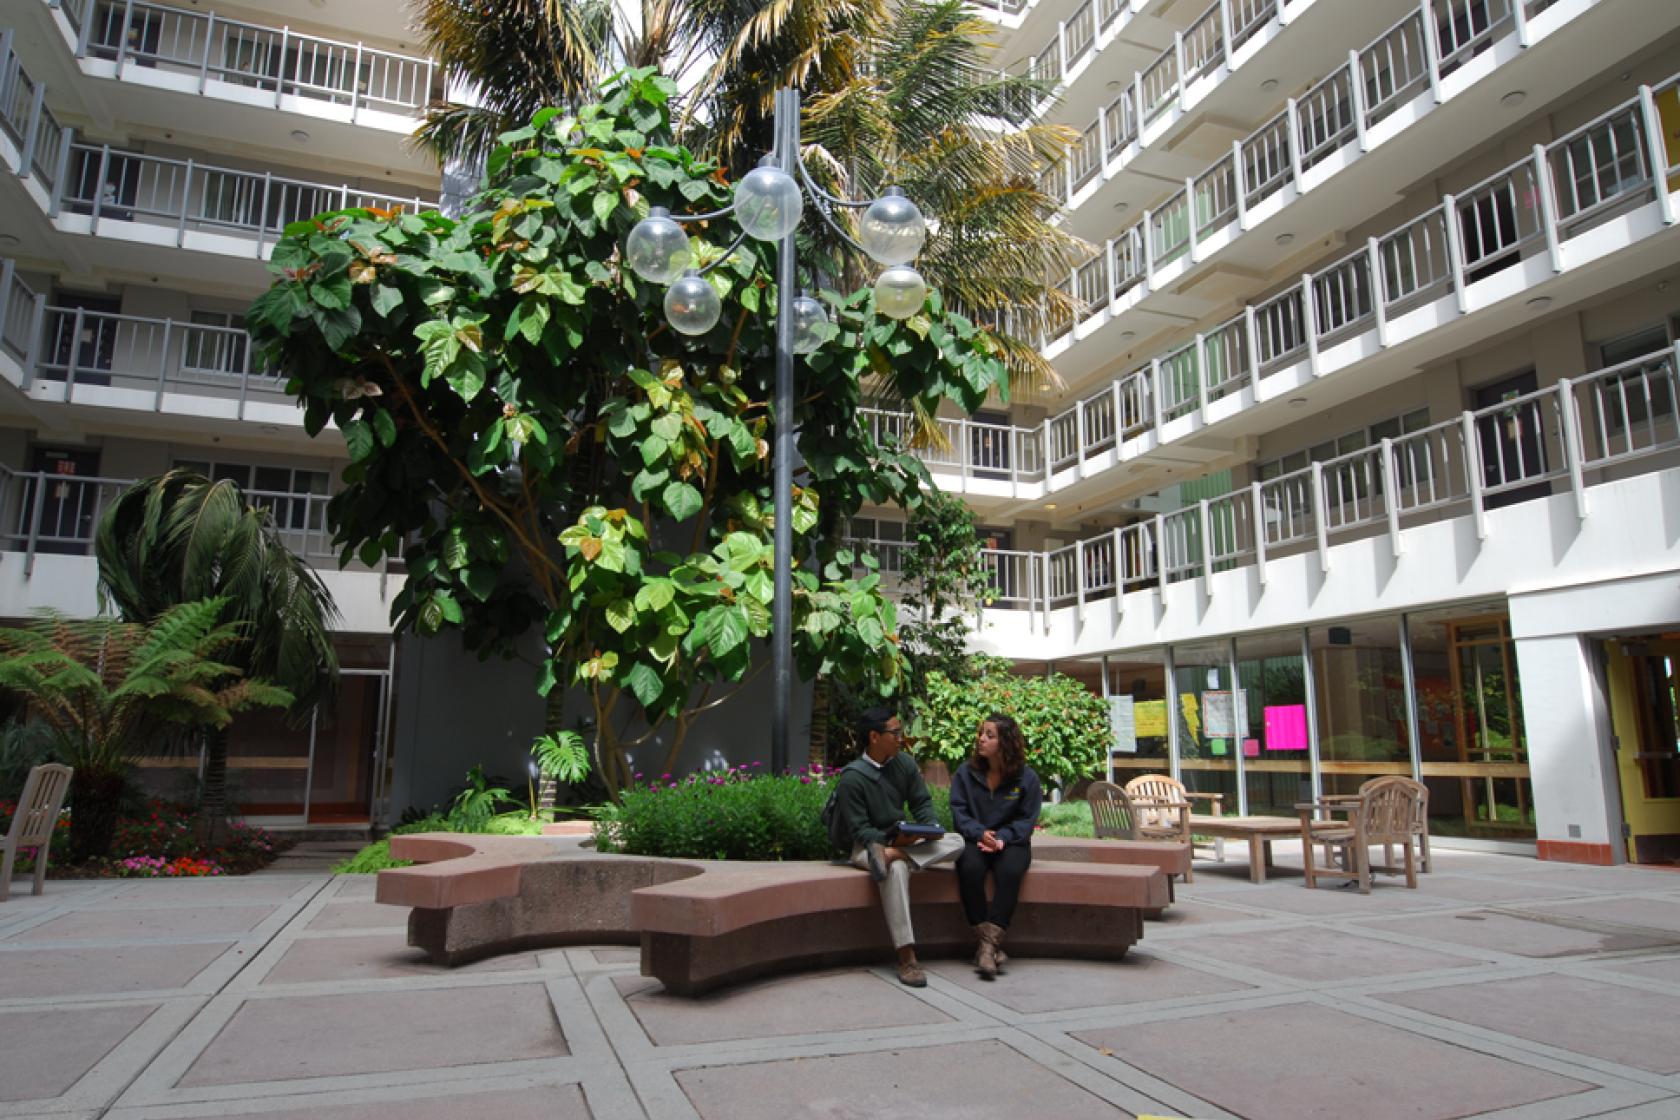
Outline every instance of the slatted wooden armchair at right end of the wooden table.
<path id="1" fill-rule="evenodd" d="M 1354 796 L 1334 796 L 1297 804 L 1300 814 L 1300 848 L 1307 887 L 1319 877 L 1347 878 L 1359 883 L 1359 893 L 1371 893 L 1373 871 L 1406 877 L 1406 887 L 1418 887 L 1418 861 L 1413 845 L 1425 848 L 1430 791 L 1410 777 L 1373 777 Z M 1342 819 L 1337 819 L 1337 814 Z M 1342 850 L 1342 866 L 1320 866 L 1314 846 Z M 1383 845 L 1384 863 L 1371 865 L 1371 846 Z M 1403 866 L 1394 866 L 1393 850 L 1401 848 Z M 1425 848 L 1426 850 L 1426 848 Z"/>

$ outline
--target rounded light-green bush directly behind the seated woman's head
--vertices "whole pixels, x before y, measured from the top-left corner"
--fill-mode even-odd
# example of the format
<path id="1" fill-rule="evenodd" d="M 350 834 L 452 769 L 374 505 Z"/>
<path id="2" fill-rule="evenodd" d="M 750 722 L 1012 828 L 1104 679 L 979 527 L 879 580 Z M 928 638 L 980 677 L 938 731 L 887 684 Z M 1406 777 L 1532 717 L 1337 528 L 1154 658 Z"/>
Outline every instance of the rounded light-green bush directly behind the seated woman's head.
<path id="1" fill-rule="evenodd" d="M 986 715 L 1013 715 L 1026 735 L 1026 762 L 1052 782 L 1089 777 L 1109 749 L 1109 709 L 1102 697 L 1063 673 L 1018 677 L 998 657 L 976 657 L 966 678 L 927 675 L 917 732 L 922 757 L 953 769 L 974 752 Z"/>

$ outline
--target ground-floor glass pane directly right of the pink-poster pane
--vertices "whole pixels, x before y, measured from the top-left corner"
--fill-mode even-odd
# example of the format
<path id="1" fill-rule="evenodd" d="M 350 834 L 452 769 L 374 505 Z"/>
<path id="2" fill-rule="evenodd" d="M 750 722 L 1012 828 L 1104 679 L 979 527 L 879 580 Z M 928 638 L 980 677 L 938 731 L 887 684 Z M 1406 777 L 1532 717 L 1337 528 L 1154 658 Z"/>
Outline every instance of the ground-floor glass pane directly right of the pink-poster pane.
<path id="1" fill-rule="evenodd" d="M 1411 777 L 1399 620 L 1314 626 L 1309 645 L 1324 793 L 1359 793 L 1383 774 Z"/>

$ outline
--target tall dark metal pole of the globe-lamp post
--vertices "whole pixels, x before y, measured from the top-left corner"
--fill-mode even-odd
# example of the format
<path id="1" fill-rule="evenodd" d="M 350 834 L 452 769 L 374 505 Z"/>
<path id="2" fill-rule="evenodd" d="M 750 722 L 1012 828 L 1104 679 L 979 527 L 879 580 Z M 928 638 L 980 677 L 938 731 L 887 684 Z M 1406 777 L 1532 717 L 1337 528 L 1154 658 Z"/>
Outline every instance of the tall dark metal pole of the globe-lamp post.
<path id="1" fill-rule="evenodd" d="M 790 176 L 798 173 L 800 94 L 776 91 L 776 161 Z M 769 772 L 788 771 L 793 739 L 793 292 L 795 233 L 781 238 L 776 259 L 776 524 L 774 593 L 769 613 Z"/>

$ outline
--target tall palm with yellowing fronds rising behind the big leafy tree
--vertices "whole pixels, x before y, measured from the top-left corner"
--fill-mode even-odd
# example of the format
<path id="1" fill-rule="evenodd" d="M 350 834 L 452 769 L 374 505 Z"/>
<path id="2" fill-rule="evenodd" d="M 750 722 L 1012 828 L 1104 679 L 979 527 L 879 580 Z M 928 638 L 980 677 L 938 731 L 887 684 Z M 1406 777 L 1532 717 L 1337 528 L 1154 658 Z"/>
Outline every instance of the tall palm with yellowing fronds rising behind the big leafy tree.
<path id="1" fill-rule="evenodd" d="M 734 175 L 769 146 L 774 91 L 803 91 L 806 161 L 852 198 L 904 186 L 937 218 L 919 269 L 993 327 L 1011 386 L 1057 383 L 1011 312 L 1065 316 L 1055 287 L 1087 247 L 1053 225 L 1038 176 L 1077 136 L 1033 123 L 1048 84 L 986 69 L 988 25 L 964 0 L 422 0 L 418 24 L 452 87 L 417 141 L 479 166 L 489 143 L 544 106 L 576 106 L 623 65 L 657 65 L 689 87 L 679 141 Z M 816 227 L 806 233 L 848 287 L 872 272 Z M 890 386 L 884 386 L 890 391 Z"/>

